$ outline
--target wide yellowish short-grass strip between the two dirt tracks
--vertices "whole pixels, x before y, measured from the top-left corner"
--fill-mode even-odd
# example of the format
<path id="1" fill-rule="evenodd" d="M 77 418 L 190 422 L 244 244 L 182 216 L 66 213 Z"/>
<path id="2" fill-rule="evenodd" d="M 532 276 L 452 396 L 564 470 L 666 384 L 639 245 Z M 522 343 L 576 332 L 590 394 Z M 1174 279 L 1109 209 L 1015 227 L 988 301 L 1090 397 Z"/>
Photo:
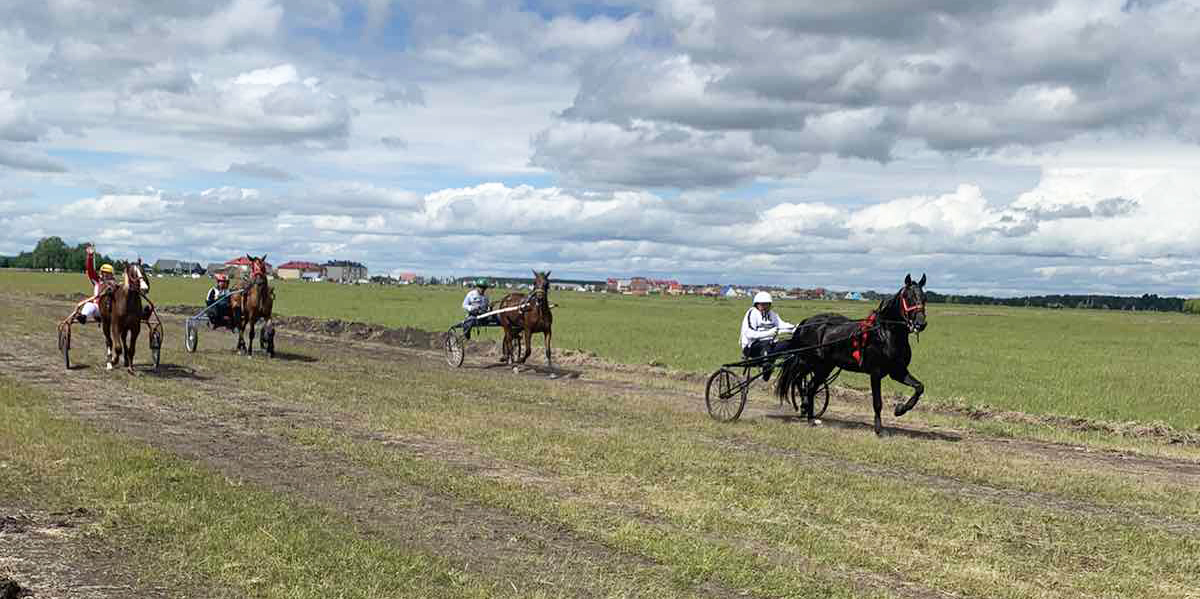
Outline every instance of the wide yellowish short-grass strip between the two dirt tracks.
<path id="1" fill-rule="evenodd" d="M 839 581 L 865 573 L 977 597 L 1188 597 L 1200 574 L 1194 535 L 1142 527 L 1117 510 L 1129 501 L 1151 513 L 1194 516 L 1195 492 L 1171 483 L 1139 484 L 1138 475 L 1074 472 L 1038 459 L 1006 466 L 1008 456 L 961 453 L 952 443 L 774 423 L 719 425 L 650 397 L 386 357 L 330 352 L 322 369 L 302 371 L 209 358 L 280 401 L 358 413 L 371 431 L 449 443 L 476 461 L 538 475 L 481 474 L 340 427 L 311 429 L 306 443 L 755 594 L 838 592 Z M 746 439 L 901 472 L 871 475 L 719 443 Z M 1042 507 L 1037 497 L 1012 505 L 958 496 L 906 480 L 906 468 L 1058 492 L 1115 511 L 1072 513 Z"/>

